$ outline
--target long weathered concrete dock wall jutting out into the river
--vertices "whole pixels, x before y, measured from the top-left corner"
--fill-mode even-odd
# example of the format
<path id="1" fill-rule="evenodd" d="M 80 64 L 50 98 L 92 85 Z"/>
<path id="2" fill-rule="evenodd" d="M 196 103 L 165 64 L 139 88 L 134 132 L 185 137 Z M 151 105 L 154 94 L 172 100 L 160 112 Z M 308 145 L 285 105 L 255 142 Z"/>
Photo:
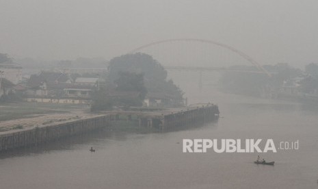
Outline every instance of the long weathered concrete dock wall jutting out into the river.
<path id="1" fill-rule="evenodd" d="M 59 138 L 85 134 L 96 129 L 110 127 L 120 116 L 132 121 L 133 116 L 139 121 L 140 127 L 156 128 L 159 130 L 174 129 L 189 124 L 198 125 L 213 121 L 220 114 L 217 105 L 202 105 L 200 107 L 169 108 L 159 111 L 110 111 L 92 118 L 83 118 L 67 123 L 52 123 L 18 131 L 0 133 L 0 152 L 19 147 L 29 147 Z"/>

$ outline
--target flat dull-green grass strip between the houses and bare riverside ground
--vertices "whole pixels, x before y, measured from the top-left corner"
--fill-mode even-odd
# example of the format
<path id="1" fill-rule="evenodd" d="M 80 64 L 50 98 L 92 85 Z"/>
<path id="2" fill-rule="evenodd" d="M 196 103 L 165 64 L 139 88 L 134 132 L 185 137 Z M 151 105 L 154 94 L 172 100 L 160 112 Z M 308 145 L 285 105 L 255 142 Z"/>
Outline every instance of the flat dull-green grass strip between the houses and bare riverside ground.
<path id="1" fill-rule="evenodd" d="M 72 110 L 89 109 L 88 105 L 57 103 L 0 103 L 0 121 L 27 118 L 37 114 L 66 113 Z"/>

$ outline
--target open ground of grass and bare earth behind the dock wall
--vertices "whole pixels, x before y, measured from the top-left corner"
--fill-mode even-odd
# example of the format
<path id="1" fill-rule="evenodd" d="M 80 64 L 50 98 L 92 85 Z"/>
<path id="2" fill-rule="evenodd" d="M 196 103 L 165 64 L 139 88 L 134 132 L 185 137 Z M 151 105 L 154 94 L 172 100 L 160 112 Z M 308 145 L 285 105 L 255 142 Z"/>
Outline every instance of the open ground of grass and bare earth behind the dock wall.
<path id="1" fill-rule="evenodd" d="M 87 105 L 65 105 L 54 103 L 1 103 L 0 133 L 26 129 L 51 123 L 76 121 L 80 118 L 90 118 Z"/>

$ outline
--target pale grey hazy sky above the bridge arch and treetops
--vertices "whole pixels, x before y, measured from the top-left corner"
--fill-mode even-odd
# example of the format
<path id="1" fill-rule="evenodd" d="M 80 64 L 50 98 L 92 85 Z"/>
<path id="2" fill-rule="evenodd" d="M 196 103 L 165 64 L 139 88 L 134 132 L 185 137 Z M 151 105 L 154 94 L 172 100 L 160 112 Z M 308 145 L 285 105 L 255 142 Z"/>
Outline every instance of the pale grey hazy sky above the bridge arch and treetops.
<path id="1" fill-rule="evenodd" d="M 148 42 L 202 38 L 261 64 L 318 62 L 318 1 L 0 0 L 0 52 L 110 59 Z"/>

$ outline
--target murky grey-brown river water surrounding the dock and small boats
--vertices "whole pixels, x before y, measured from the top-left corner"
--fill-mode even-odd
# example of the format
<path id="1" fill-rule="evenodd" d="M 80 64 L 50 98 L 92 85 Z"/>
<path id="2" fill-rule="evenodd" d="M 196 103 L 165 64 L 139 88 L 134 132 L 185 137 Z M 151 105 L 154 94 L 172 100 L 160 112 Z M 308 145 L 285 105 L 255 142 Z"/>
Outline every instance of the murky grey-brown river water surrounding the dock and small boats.
<path id="1" fill-rule="evenodd" d="M 166 133 L 100 131 L 0 155 L 0 188 L 317 188 L 314 105 L 203 92 L 216 123 Z M 194 100 L 199 102 L 199 100 Z M 183 138 L 299 140 L 277 153 L 183 153 Z M 95 153 L 88 149 L 94 147 Z M 274 166 L 254 164 L 257 155 Z"/>

